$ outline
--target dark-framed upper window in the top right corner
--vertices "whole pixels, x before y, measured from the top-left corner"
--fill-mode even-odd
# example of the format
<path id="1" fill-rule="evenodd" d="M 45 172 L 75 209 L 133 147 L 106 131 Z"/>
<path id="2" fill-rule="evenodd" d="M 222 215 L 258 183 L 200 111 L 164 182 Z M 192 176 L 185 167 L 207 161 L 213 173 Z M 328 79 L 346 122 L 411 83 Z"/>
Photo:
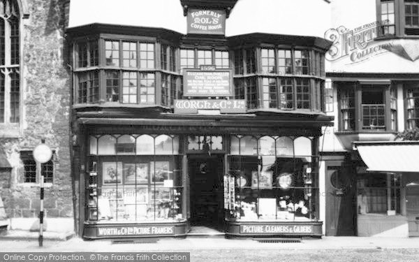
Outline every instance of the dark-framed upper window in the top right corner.
<path id="1" fill-rule="evenodd" d="M 419 0 L 376 0 L 378 36 L 419 35 Z"/>

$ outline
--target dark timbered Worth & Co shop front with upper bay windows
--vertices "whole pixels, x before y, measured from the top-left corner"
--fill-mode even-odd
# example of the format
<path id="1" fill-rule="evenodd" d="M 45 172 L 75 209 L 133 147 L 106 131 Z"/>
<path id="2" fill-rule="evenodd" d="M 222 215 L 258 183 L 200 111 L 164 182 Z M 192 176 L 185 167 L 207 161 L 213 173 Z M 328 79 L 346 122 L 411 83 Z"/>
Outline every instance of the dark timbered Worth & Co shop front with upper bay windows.
<path id="1" fill-rule="evenodd" d="M 333 119 L 323 112 L 331 42 L 226 36 L 235 1 L 224 2 L 182 3 L 187 34 L 67 30 L 83 238 L 181 237 L 194 226 L 227 237 L 322 235 L 318 148 Z"/>

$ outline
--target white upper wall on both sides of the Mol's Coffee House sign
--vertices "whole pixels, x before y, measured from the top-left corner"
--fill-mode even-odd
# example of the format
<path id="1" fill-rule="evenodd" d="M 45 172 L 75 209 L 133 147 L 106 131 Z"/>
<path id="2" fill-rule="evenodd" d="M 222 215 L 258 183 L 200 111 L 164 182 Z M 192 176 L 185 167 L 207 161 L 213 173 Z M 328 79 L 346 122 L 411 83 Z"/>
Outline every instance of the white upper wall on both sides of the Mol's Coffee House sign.
<path id="1" fill-rule="evenodd" d="M 179 0 L 71 0 L 69 27 L 95 22 L 186 34 Z M 226 20 L 226 36 L 259 32 L 323 37 L 329 27 L 330 4 L 323 0 L 239 0 Z"/>

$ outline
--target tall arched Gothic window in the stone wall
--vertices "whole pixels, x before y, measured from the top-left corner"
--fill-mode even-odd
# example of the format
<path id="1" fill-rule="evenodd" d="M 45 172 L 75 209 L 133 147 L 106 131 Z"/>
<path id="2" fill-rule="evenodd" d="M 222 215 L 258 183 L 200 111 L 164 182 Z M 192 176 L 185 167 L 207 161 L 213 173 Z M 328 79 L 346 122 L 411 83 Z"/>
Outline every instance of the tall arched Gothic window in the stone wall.
<path id="1" fill-rule="evenodd" d="M 20 12 L 17 1 L 0 1 L 0 123 L 20 122 Z"/>

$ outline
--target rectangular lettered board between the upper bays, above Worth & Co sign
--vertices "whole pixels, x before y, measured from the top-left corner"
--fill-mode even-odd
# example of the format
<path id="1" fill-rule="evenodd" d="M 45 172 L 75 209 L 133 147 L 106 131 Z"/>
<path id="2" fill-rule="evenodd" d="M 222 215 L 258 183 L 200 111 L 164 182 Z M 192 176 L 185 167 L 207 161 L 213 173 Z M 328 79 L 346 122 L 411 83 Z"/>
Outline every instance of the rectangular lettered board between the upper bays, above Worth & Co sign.
<path id="1" fill-rule="evenodd" d="M 233 96 L 231 69 L 184 69 L 184 96 Z"/>

